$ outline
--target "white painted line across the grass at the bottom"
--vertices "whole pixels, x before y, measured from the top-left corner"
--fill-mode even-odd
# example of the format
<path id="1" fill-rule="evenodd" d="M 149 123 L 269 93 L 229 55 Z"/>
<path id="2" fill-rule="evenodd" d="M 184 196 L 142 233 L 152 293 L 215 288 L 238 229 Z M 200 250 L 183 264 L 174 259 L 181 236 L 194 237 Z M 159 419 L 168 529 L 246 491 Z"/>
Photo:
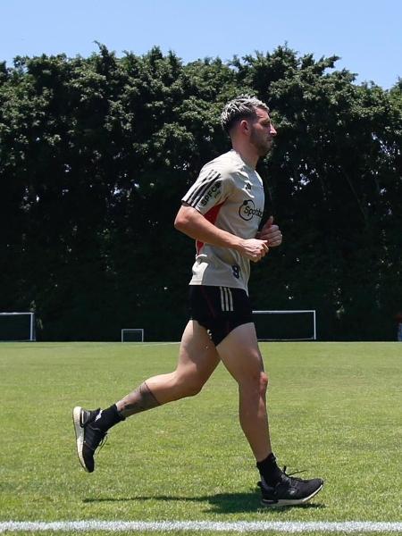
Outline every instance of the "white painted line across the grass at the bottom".
<path id="1" fill-rule="evenodd" d="M 0 522 L 0 532 L 179 532 L 179 531 L 213 531 L 213 532 L 402 532 L 401 523 L 375 521 L 55 521 Z"/>

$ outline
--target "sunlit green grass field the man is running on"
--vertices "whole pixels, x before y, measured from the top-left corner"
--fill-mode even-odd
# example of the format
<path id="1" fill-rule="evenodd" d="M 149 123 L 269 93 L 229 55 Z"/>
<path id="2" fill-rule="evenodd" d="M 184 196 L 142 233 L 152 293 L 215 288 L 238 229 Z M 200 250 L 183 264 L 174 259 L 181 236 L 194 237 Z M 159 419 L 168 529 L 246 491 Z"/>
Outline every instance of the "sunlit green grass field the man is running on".
<path id="1" fill-rule="evenodd" d="M 170 372 L 178 348 L 2 344 L 0 522 L 402 520 L 398 343 L 261 345 L 279 463 L 325 480 L 305 507 L 260 508 L 258 474 L 238 423 L 237 386 L 222 365 L 196 398 L 113 428 L 96 472 L 85 473 L 72 407 L 109 406 L 147 377 Z"/>

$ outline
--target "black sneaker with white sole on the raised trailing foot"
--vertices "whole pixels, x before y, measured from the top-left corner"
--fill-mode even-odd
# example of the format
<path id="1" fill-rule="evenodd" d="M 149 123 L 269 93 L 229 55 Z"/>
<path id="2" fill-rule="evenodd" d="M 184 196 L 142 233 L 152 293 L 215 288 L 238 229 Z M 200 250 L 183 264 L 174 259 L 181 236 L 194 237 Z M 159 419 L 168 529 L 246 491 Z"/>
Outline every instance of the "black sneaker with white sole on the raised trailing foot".
<path id="1" fill-rule="evenodd" d="M 96 416 L 100 408 L 95 410 L 76 406 L 72 410 L 75 437 L 77 439 L 77 454 L 80 464 L 88 473 L 95 469 L 94 454 L 99 445 L 102 446 L 106 432 L 96 428 Z"/>

